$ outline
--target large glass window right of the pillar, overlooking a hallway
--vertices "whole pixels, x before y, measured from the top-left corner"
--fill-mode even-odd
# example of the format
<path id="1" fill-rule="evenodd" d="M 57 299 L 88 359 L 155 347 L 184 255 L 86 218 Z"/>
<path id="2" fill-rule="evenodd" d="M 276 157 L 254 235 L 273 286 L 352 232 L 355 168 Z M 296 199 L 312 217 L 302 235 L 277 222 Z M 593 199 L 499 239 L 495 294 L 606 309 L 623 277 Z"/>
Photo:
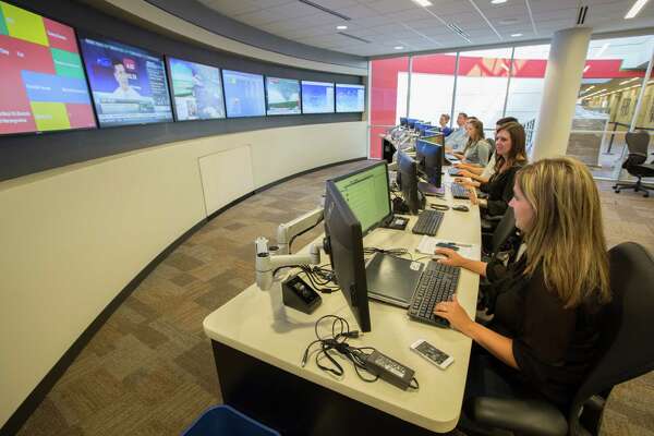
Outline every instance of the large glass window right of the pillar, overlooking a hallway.
<path id="1" fill-rule="evenodd" d="M 568 155 L 589 165 L 596 177 L 619 173 L 625 133 L 633 120 L 653 47 L 653 36 L 595 39 L 589 45 Z M 637 126 L 649 120 L 650 105 L 643 100 Z"/>

